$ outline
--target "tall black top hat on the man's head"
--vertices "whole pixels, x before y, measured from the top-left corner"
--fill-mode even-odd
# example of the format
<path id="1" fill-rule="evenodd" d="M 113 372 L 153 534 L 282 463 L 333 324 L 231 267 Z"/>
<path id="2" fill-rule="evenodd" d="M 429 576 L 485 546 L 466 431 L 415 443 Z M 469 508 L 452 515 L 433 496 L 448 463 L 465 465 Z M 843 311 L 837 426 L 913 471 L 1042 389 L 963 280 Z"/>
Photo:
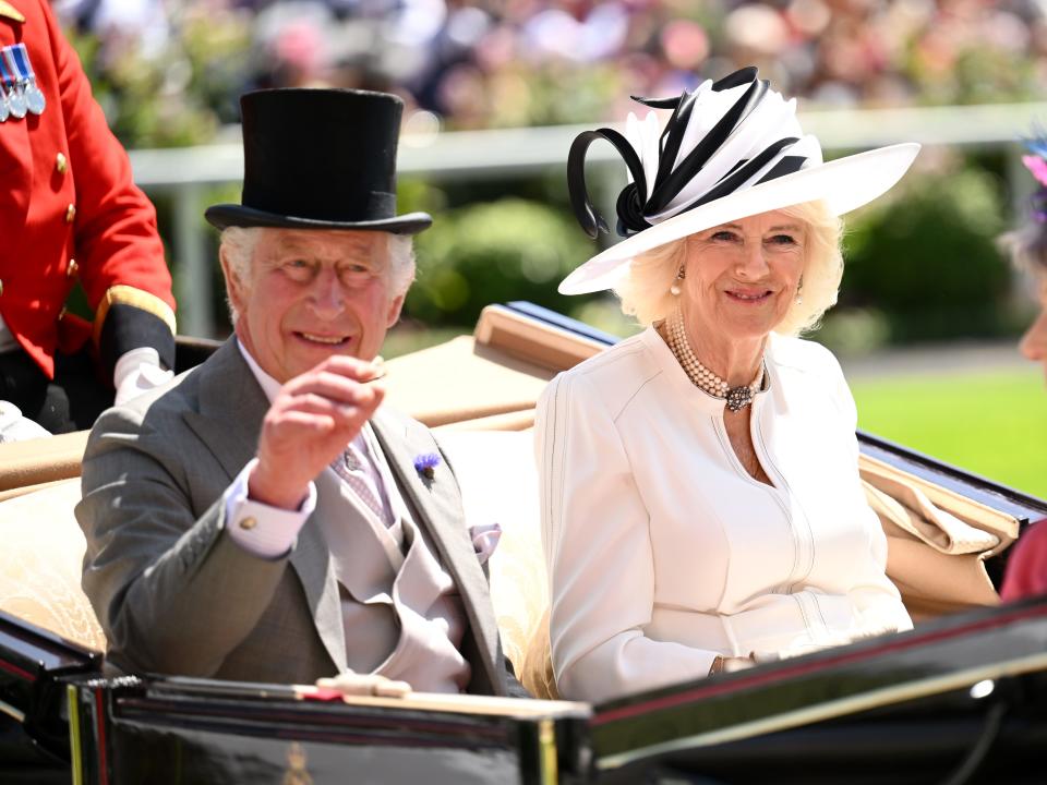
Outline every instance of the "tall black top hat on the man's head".
<path id="1" fill-rule="evenodd" d="M 396 215 L 396 143 L 404 102 L 385 93 L 267 89 L 240 97 L 243 204 L 204 214 L 212 225 L 372 229 L 414 234 L 426 213 Z"/>

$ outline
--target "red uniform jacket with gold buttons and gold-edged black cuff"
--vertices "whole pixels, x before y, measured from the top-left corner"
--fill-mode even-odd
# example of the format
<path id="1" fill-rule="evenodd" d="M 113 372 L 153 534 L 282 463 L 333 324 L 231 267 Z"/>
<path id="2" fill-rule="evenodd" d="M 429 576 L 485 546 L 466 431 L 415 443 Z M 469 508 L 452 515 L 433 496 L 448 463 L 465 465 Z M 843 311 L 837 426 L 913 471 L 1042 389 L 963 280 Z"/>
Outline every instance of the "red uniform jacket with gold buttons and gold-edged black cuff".
<path id="1" fill-rule="evenodd" d="M 49 377 L 56 349 L 75 351 L 93 331 L 109 378 L 141 346 L 170 366 L 174 299 L 156 212 L 47 2 L 0 0 L 0 48 L 16 43 L 47 107 L 0 123 L 0 314 Z M 64 315 L 77 278 L 94 328 Z"/>

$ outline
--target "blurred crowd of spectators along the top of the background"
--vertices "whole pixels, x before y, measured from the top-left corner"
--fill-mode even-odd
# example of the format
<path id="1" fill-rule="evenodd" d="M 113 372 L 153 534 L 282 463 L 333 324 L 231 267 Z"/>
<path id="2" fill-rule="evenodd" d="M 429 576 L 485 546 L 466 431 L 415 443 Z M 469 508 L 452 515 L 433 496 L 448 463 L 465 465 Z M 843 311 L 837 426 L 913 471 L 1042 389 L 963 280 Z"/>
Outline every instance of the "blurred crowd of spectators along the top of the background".
<path id="1" fill-rule="evenodd" d="M 289 85 L 395 90 L 419 122 L 452 129 L 616 120 L 624 96 L 676 95 L 750 63 L 834 107 L 1028 100 L 1047 85 L 1044 0 L 56 4 L 97 41 L 101 80 L 129 59 L 157 68 L 160 94 L 196 90 L 220 120 L 242 89 Z"/>

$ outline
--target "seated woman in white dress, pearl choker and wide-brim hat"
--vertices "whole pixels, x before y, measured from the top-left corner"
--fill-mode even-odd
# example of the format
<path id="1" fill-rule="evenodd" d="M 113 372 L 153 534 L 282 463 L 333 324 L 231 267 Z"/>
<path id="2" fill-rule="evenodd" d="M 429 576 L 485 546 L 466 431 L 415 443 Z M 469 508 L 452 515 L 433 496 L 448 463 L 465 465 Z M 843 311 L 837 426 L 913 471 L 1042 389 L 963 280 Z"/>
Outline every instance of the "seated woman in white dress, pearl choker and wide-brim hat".
<path id="1" fill-rule="evenodd" d="M 908 629 L 858 478 L 854 401 L 832 354 L 795 336 L 835 302 L 838 216 L 918 145 L 823 164 L 795 102 L 744 69 L 626 135 L 617 245 L 565 293 L 613 288 L 648 328 L 557 376 L 538 408 L 553 669 L 604 701 Z"/>

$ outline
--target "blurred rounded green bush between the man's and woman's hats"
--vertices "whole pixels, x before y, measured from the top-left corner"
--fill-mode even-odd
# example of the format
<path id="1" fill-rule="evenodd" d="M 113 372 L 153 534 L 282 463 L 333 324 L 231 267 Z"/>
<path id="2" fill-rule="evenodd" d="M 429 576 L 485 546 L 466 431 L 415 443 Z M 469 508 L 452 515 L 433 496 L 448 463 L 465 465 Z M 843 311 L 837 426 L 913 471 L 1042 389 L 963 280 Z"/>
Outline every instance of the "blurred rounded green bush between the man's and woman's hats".
<path id="1" fill-rule="evenodd" d="M 430 325 L 472 325 L 484 305 L 510 300 L 569 313 L 585 300 L 556 285 L 594 251 L 563 213 L 518 198 L 448 210 L 416 247 L 406 310 Z"/>

